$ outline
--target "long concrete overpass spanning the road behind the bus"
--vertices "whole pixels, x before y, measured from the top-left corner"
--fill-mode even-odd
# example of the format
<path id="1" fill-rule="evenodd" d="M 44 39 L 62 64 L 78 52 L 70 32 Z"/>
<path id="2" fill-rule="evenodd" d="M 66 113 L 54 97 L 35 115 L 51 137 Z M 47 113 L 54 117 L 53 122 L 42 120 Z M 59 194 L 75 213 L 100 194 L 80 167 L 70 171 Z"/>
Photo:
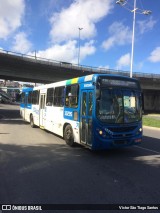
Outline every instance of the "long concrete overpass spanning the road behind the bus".
<path id="1" fill-rule="evenodd" d="M 35 56 L 0 52 L 0 79 L 34 83 L 51 83 L 93 73 L 119 74 L 129 72 L 78 66 L 67 62 L 48 60 Z M 145 111 L 160 112 L 160 74 L 133 73 L 140 80 L 144 93 Z"/>

